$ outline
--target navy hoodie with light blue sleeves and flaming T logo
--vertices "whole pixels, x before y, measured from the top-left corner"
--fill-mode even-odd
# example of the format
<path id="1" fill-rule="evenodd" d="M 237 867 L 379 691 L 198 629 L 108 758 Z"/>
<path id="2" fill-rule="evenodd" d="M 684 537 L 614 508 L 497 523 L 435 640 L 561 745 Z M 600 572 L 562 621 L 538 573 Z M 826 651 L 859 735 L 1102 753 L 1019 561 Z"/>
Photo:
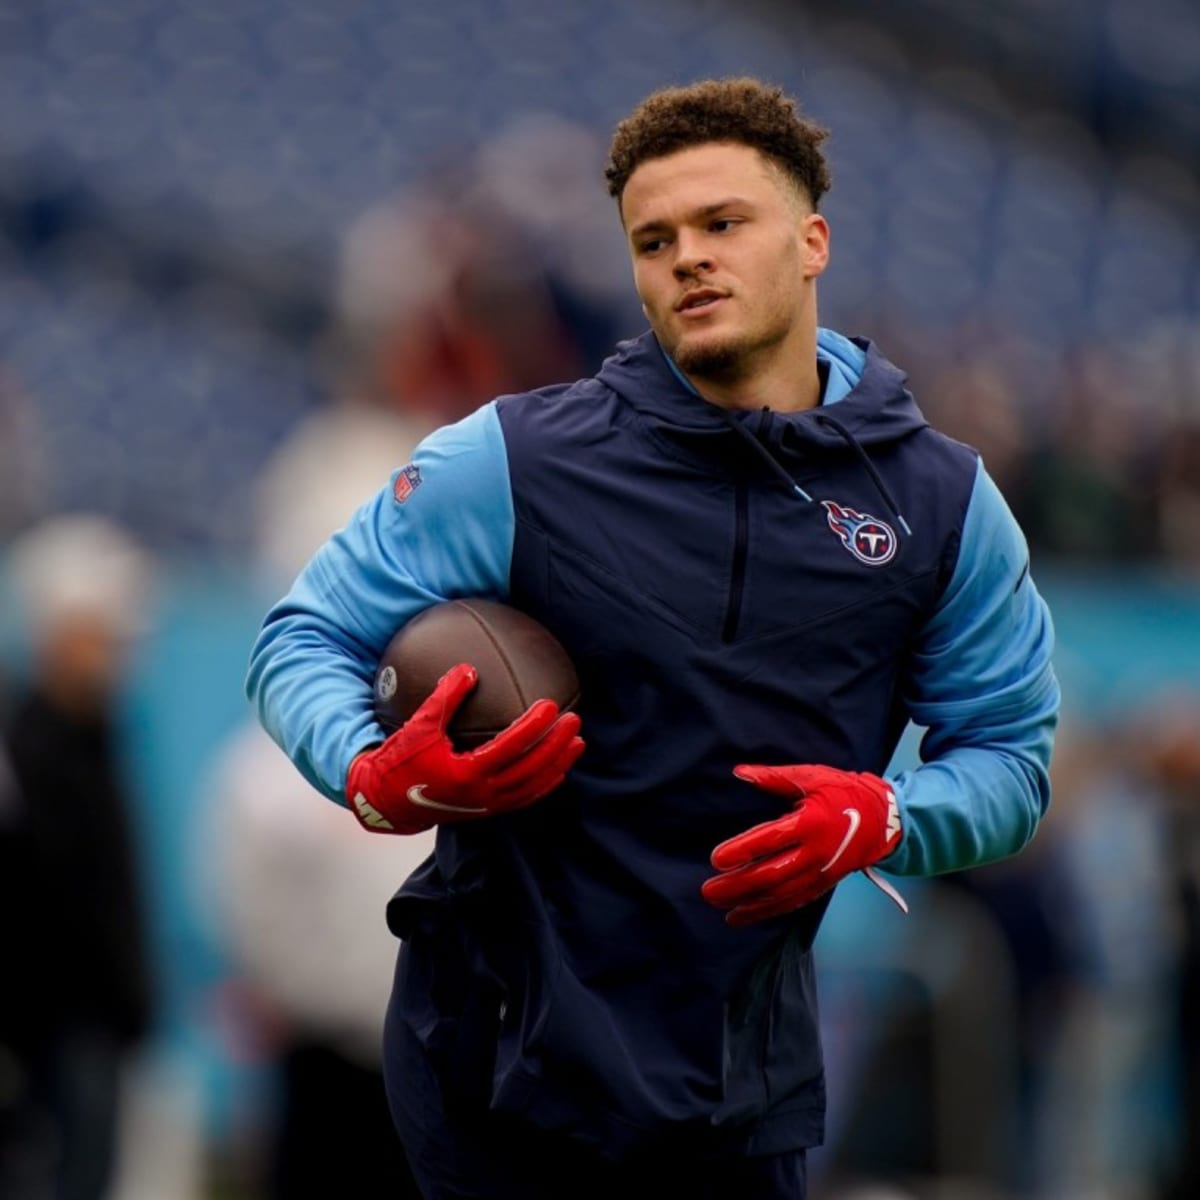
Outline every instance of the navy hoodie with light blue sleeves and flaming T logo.
<path id="1" fill-rule="evenodd" d="M 389 907 L 397 997 L 449 1090 L 620 1157 L 688 1129 L 816 1144 L 811 947 L 828 896 L 731 929 L 700 887 L 786 810 L 740 762 L 883 773 L 881 864 L 1012 853 L 1049 799 L 1058 691 L 1024 539 L 978 456 L 901 372 L 821 331 L 823 402 L 708 404 L 650 335 L 594 379 L 438 431 L 268 616 L 248 690 L 331 798 L 380 740 L 378 654 L 438 600 L 526 610 L 580 671 L 588 743 L 533 809 L 443 827 Z M 402 486 L 395 484 L 402 481 Z"/>

